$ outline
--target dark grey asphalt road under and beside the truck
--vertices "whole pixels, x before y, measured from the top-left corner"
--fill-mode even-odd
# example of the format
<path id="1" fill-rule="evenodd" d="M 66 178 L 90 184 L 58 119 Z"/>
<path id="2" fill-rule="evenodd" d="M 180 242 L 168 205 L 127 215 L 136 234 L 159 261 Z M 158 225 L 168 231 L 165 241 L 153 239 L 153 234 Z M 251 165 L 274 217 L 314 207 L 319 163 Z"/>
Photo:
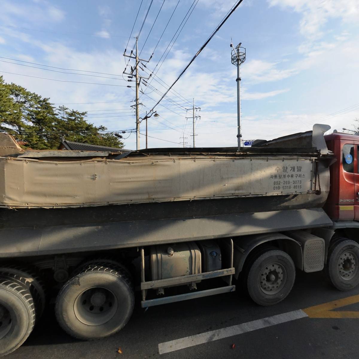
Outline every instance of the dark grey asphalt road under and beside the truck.
<path id="1" fill-rule="evenodd" d="M 146 312 L 137 298 L 134 314 L 122 331 L 90 342 L 65 334 L 50 306 L 23 346 L 6 358 L 359 358 L 358 313 L 353 314 L 358 318 L 304 317 L 159 354 L 158 344 L 163 342 L 351 297 L 359 294 L 359 288 L 339 292 L 322 272 L 298 272 L 292 292 L 276 306 L 257 306 L 240 292 L 237 287 L 234 293 L 151 307 Z M 358 303 L 334 311 L 359 311 L 359 296 Z M 122 354 L 117 353 L 119 347 Z"/>

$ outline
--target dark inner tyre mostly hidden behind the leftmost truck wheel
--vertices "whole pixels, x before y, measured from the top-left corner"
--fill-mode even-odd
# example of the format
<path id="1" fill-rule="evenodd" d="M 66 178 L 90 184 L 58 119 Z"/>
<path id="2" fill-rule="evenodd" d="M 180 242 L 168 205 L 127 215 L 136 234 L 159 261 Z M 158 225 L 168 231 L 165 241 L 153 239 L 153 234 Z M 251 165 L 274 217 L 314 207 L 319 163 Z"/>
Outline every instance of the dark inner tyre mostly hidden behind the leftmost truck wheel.
<path id="1" fill-rule="evenodd" d="M 42 316 L 46 305 L 45 283 L 41 279 L 40 274 L 34 268 L 27 268 L 20 265 L 1 265 L 0 275 L 9 276 L 15 281 L 20 281 L 26 286 L 33 297 L 36 318 Z"/>

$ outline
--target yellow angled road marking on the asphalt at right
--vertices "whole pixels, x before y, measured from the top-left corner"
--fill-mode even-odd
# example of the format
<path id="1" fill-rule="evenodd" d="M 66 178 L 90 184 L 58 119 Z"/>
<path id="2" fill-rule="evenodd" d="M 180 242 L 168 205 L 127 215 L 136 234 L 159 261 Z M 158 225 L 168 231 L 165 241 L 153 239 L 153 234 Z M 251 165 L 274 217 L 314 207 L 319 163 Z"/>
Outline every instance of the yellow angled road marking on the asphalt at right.
<path id="1" fill-rule="evenodd" d="M 318 306 L 303 309 L 309 318 L 359 318 L 359 312 L 333 312 L 333 309 L 349 306 L 359 302 L 359 294 L 332 302 L 319 304 Z"/>

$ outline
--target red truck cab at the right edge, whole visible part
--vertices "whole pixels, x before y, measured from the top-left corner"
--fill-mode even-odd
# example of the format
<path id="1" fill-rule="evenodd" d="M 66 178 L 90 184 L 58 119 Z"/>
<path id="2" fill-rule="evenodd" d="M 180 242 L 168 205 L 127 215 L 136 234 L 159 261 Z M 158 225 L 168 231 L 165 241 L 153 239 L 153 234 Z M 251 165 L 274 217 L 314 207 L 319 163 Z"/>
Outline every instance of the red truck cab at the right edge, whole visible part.
<path id="1" fill-rule="evenodd" d="M 325 141 L 336 162 L 330 166 L 330 191 L 324 209 L 334 221 L 359 220 L 359 136 L 332 133 Z"/>

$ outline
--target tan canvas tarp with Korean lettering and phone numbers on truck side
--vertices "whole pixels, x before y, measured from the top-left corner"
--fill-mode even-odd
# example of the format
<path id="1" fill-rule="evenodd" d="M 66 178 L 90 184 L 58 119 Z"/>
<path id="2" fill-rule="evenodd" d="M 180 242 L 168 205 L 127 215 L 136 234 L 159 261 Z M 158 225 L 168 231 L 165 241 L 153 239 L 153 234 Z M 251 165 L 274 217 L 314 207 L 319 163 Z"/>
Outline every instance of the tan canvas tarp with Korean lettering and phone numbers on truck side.
<path id="1" fill-rule="evenodd" d="M 62 207 L 311 193 L 315 159 L 0 158 L 2 207 Z"/>

